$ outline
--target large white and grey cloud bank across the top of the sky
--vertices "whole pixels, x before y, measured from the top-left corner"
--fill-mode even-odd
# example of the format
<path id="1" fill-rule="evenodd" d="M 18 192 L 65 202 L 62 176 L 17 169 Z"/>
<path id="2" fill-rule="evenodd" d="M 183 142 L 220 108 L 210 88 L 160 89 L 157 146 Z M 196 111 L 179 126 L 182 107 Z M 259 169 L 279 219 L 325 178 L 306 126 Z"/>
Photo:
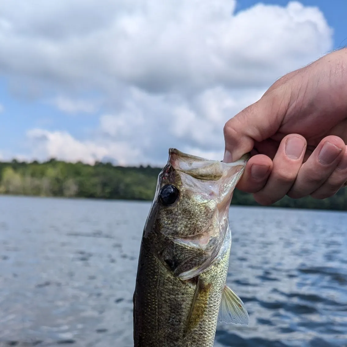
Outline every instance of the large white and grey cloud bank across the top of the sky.
<path id="1" fill-rule="evenodd" d="M 181 92 L 264 86 L 331 48 L 331 29 L 318 8 L 259 4 L 235 15 L 235 5 L 5 0 L 0 70 L 67 88 L 132 84 Z"/>

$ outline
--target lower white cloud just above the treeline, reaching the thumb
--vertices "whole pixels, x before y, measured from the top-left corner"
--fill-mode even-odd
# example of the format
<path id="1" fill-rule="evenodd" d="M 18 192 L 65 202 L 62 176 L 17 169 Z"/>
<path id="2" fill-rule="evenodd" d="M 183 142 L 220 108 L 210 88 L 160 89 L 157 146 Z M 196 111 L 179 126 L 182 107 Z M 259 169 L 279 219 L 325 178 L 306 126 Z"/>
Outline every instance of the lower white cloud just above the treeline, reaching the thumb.
<path id="1" fill-rule="evenodd" d="M 119 164 L 163 165 L 168 148 L 177 147 L 205 158 L 221 159 L 226 119 L 256 100 L 264 91 L 227 91 L 222 87 L 186 98 L 153 95 L 133 89 L 118 113 L 102 115 L 88 140 L 66 132 L 28 132 L 35 158 L 49 157 L 93 163 L 104 158 Z M 219 153 L 219 154 L 218 154 Z"/>

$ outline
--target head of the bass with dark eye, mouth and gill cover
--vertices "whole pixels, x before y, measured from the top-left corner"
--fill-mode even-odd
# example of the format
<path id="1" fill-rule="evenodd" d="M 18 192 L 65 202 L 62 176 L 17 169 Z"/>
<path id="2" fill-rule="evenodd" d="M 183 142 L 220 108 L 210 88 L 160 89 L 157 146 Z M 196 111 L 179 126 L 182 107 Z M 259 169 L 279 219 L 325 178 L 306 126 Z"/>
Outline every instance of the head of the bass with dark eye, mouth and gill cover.
<path id="1" fill-rule="evenodd" d="M 232 192 L 247 156 L 223 163 L 169 150 L 152 205 L 159 258 L 183 280 L 217 256 L 228 230 Z"/>

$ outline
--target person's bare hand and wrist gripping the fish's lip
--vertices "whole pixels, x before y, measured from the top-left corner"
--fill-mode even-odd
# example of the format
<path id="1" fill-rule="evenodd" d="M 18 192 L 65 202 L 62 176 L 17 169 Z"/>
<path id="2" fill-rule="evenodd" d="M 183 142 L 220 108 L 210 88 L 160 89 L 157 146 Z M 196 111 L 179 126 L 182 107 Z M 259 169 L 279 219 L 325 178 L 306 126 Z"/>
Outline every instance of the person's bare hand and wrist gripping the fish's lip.
<path id="1" fill-rule="evenodd" d="M 225 162 L 251 152 L 237 188 L 258 203 L 334 195 L 347 181 L 347 49 L 281 77 L 224 137 Z"/>

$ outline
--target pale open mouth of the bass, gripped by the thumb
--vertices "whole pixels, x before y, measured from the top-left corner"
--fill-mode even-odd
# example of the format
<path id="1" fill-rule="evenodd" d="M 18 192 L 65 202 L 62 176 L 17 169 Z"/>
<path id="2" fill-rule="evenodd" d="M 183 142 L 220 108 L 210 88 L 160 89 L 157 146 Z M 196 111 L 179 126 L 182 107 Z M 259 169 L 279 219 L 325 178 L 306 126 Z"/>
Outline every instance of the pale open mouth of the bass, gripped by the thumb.
<path id="1" fill-rule="evenodd" d="M 200 180 L 219 180 L 231 167 L 244 167 L 250 154 L 243 155 L 232 163 L 201 158 L 196 155 L 183 153 L 176 148 L 169 149 L 168 164 L 177 171 L 184 172 Z"/>

